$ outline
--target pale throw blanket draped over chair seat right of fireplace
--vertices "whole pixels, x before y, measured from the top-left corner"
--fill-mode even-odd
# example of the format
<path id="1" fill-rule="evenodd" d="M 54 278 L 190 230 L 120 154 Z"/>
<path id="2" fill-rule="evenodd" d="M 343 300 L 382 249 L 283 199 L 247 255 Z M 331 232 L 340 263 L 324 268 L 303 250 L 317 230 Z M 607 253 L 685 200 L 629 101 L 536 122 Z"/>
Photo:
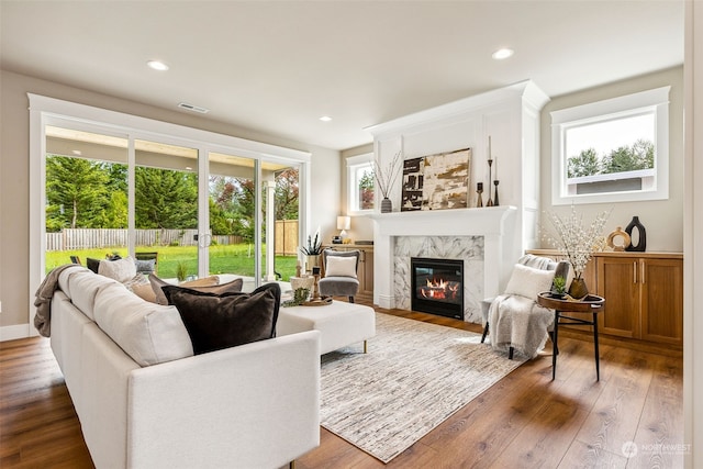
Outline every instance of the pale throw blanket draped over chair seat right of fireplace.
<path id="1" fill-rule="evenodd" d="M 515 350 L 529 358 L 537 356 L 547 342 L 554 311 L 518 294 L 501 294 L 489 310 L 491 345 L 494 349 Z"/>

